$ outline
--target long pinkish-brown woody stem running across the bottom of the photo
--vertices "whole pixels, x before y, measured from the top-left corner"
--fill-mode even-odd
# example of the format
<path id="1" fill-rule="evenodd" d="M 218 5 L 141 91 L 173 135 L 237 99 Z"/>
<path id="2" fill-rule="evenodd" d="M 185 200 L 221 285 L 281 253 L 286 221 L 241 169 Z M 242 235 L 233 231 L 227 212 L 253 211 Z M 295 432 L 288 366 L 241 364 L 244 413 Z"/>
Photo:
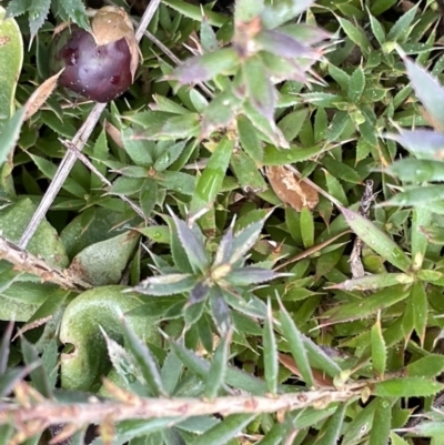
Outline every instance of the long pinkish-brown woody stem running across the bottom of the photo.
<path id="1" fill-rule="evenodd" d="M 27 385 L 24 382 L 17 386 Z M 88 423 L 101 424 L 105 418 L 121 422 L 135 418 L 161 418 L 178 417 L 180 419 L 220 414 L 261 414 L 276 413 L 282 409 L 293 411 L 306 407 L 327 407 L 331 403 L 347 402 L 360 397 L 362 388 L 341 391 L 310 391 L 276 396 L 225 396 L 212 401 L 200 398 L 144 398 L 133 393 L 117 387 L 109 381 L 105 386 L 119 397 L 120 402 L 97 402 L 72 405 L 61 405 L 52 401 L 44 401 L 33 406 L 3 406 L 0 411 L 0 424 L 13 423 L 23 425 L 26 423 L 44 422 L 46 427 L 54 424 Z"/>

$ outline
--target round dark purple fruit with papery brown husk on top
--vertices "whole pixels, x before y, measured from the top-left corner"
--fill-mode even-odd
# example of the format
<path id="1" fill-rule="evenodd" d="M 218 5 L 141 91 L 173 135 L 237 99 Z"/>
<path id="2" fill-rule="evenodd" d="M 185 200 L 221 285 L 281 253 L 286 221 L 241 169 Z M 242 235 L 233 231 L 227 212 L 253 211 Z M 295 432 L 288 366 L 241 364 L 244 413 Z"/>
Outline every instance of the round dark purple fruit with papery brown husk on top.
<path id="1" fill-rule="evenodd" d="M 59 83 L 97 102 L 109 102 L 124 93 L 138 63 L 132 24 L 124 11 L 111 7 L 95 12 L 91 32 L 78 26 L 64 28 L 51 50 L 51 70 L 64 68 Z"/>

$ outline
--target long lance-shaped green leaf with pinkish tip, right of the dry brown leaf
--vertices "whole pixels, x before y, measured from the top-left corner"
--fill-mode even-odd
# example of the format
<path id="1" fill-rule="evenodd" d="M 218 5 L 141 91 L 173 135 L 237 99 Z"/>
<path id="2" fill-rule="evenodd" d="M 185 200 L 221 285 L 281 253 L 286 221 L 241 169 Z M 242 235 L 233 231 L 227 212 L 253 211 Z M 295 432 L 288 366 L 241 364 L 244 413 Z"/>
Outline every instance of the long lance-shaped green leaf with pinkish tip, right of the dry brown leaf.
<path id="1" fill-rule="evenodd" d="M 341 209 L 341 211 L 353 232 L 365 244 L 397 269 L 404 272 L 408 270 L 411 260 L 385 232 L 381 231 L 370 220 L 359 213 L 352 212 L 349 209 Z"/>

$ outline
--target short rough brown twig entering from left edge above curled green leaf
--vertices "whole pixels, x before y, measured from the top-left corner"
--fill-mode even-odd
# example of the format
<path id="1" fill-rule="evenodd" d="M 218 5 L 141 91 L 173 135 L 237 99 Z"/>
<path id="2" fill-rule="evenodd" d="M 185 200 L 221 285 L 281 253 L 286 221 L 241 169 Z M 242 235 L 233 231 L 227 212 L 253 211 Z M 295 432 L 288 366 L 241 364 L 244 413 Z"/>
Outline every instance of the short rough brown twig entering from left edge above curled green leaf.
<path id="1" fill-rule="evenodd" d="M 91 284 L 77 277 L 71 271 L 52 267 L 44 260 L 21 250 L 3 236 L 0 236 L 0 259 L 9 261 L 19 272 L 39 276 L 42 282 L 49 281 L 72 291 L 91 287 Z"/>

